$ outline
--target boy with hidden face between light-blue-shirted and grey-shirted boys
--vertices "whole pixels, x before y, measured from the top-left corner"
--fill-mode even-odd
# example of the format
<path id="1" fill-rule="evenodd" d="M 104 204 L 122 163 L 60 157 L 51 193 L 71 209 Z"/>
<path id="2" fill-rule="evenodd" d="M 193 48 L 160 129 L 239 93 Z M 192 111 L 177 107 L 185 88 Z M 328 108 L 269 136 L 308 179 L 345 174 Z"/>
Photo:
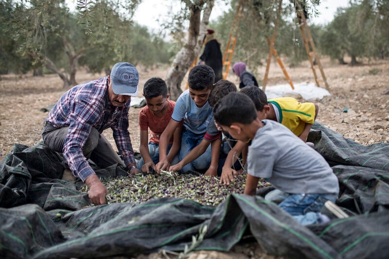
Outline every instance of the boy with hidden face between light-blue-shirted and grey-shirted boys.
<path id="1" fill-rule="evenodd" d="M 210 93 L 210 96 L 208 98 L 208 103 L 213 107 L 221 98 L 226 96 L 230 92 L 236 92 L 237 88 L 236 86 L 228 81 L 228 80 L 219 80 L 214 86 Z M 232 141 L 231 141 L 232 142 Z M 234 142 L 235 143 L 235 142 Z M 231 143 L 233 145 L 234 143 Z M 207 127 L 207 132 L 204 135 L 204 138 L 201 140 L 200 144 L 198 144 L 192 151 L 185 156 L 179 163 L 176 165 L 173 165 L 169 168 L 169 171 L 176 171 L 179 172 L 183 166 L 186 164 L 192 162 L 197 157 L 202 155 L 208 148 L 208 146 L 211 144 L 211 166 L 205 172 L 205 175 L 221 175 L 221 167 L 219 167 L 219 155 L 224 154 L 223 152 L 220 152 L 220 147 L 222 144 L 222 134 L 221 132 L 216 128 L 214 120 L 210 121 Z M 222 165 L 224 164 L 224 159 L 226 155 L 222 155 L 221 159 L 223 160 Z"/>

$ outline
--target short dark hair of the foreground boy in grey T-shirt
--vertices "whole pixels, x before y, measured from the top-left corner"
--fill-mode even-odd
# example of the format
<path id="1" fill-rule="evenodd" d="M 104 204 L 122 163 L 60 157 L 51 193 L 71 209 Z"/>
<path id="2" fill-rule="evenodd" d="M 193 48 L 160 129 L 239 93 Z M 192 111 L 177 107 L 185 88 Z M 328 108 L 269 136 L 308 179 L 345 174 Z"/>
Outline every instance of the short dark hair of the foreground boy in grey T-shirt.
<path id="1" fill-rule="evenodd" d="M 240 92 L 229 93 L 213 107 L 213 118 L 223 126 L 230 127 L 234 122 L 250 124 L 257 117 L 254 103 Z"/>

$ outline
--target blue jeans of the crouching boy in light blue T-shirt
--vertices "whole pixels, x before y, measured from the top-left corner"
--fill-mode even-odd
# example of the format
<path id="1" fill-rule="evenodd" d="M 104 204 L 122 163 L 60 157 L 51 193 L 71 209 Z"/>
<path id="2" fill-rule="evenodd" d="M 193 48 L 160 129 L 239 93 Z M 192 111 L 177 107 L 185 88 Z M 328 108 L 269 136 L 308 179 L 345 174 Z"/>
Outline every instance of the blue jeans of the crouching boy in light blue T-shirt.
<path id="1" fill-rule="evenodd" d="M 183 129 L 181 135 L 181 148 L 178 152 L 178 159 L 181 161 L 186 155 L 188 155 L 192 149 L 194 149 L 201 140 L 203 140 L 204 134 L 195 134 L 189 130 Z M 190 170 L 196 172 L 206 171 L 211 165 L 211 145 L 208 146 L 207 150 L 197 157 L 189 164 L 182 167 L 180 173 L 186 173 Z"/>

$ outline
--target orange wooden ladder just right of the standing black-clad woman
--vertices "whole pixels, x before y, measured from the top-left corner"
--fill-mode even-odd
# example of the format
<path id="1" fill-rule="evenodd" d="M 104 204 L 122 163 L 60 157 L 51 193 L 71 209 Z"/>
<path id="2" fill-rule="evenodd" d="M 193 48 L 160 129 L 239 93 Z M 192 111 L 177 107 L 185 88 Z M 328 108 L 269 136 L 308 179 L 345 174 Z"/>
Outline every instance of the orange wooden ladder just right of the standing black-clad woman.
<path id="1" fill-rule="evenodd" d="M 230 70 L 231 60 L 232 60 L 232 54 L 234 53 L 236 40 L 239 32 L 239 24 L 242 20 L 242 12 L 243 12 L 243 2 L 239 1 L 238 7 L 236 8 L 236 15 L 234 17 L 234 21 L 231 26 L 230 36 L 229 40 L 227 42 L 226 51 L 223 55 L 223 79 L 227 79 L 227 75 Z"/>

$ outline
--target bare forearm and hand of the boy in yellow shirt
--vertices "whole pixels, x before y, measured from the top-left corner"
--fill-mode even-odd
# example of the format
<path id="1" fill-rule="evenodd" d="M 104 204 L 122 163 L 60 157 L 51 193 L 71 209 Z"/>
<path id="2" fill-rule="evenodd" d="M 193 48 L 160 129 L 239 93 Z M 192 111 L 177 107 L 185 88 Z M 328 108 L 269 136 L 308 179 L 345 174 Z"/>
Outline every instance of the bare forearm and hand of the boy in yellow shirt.
<path id="1" fill-rule="evenodd" d="M 230 182 L 238 175 L 238 173 L 232 169 L 233 164 L 239 158 L 240 153 L 246 147 L 246 143 L 238 141 L 235 146 L 230 150 L 227 155 L 226 161 L 222 169 L 222 175 L 220 176 L 220 184 L 230 185 Z"/>

